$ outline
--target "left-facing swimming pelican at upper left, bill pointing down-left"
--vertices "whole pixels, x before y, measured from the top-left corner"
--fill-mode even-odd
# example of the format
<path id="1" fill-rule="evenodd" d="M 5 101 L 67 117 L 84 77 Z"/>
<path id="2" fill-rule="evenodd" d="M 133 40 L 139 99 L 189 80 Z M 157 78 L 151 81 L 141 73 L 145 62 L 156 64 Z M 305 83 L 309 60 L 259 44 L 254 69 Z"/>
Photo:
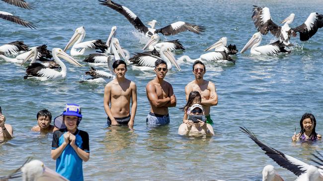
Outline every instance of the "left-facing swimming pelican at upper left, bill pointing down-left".
<path id="1" fill-rule="evenodd" d="M 105 51 L 108 47 L 104 44 L 102 40 L 91 40 L 82 42 L 85 37 L 85 28 L 83 26 L 77 28 L 75 30 L 74 35 L 72 36 L 69 43 L 65 46 L 64 51 L 69 49 L 72 46 L 71 49 L 71 55 L 89 55 L 90 53 L 95 53 L 95 49 L 100 49 L 101 51 Z M 81 50 L 77 50 L 80 49 Z"/>

